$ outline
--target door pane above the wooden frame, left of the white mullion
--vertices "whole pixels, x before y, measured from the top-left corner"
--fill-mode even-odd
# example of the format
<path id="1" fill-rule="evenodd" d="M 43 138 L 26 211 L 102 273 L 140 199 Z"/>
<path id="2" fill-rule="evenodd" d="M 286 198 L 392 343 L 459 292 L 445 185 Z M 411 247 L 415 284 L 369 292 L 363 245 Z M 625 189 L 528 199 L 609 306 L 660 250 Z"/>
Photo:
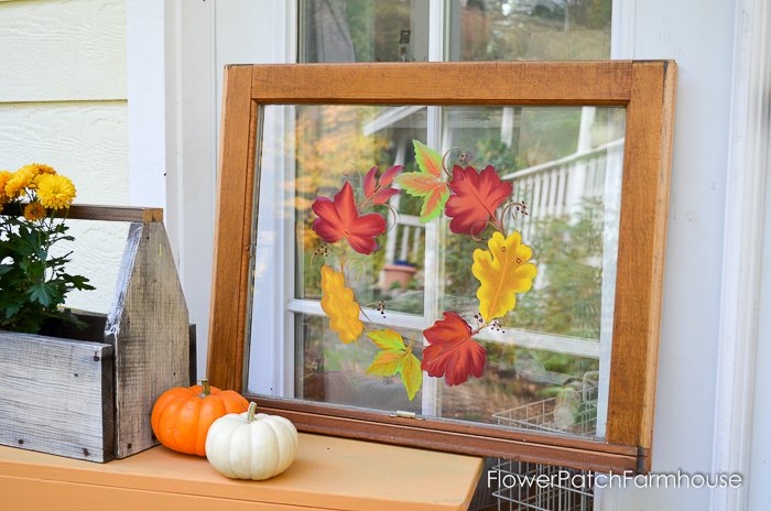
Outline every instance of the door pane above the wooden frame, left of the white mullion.
<path id="1" fill-rule="evenodd" d="M 298 62 L 428 59 L 428 2 L 303 0 Z"/>

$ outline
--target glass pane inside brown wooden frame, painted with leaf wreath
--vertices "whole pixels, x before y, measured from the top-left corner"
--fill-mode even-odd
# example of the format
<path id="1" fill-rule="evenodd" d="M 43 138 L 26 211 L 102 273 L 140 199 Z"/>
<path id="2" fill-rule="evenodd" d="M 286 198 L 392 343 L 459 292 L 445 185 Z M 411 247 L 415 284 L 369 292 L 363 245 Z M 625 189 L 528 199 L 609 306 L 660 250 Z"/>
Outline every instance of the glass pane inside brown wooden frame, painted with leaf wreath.
<path id="1" fill-rule="evenodd" d="M 250 391 L 604 436 L 622 108 L 269 106 L 261 118 Z M 432 130 L 435 154 L 422 145 Z M 439 188 L 452 188 L 435 216 L 410 181 L 430 161 Z M 380 171 L 368 180 L 372 165 Z M 392 165 L 403 168 L 383 185 Z M 463 192 L 456 173 L 492 184 Z M 376 200 L 388 187 L 397 189 Z M 476 231 L 454 227 L 458 196 L 501 189 Z M 363 235 L 366 215 L 387 220 Z M 506 259 L 496 236 L 517 254 L 517 282 L 474 268 L 477 252 Z M 528 264 L 534 279 L 515 273 Z M 515 302 L 490 314 L 481 286 L 499 284 Z M 452 331 L 430 330 L 450 319 Z M 382 330 L 393 331 L 370 336 Z M 458 331 L 460 351 L 484 352 L 484 363 L 474 355 L 437 362 L 448 352 L 437 347 Z M 378 365 L 388 357 L 392 366 Z M 420 388 L 402 378 L 410 357 Z"/>

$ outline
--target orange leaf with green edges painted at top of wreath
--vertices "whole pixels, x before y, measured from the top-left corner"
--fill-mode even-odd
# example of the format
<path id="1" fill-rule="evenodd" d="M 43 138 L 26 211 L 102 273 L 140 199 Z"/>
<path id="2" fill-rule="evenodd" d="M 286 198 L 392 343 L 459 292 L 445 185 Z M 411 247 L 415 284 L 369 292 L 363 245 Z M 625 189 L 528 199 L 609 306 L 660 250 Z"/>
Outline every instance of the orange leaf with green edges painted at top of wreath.
<path id="1" fill-rule="evenodd" d="M 439 216 L 449 197 L 449 187 L 442 174 L 442 155 L 426 144 L 413 140 L 415 162 L 420 172 L 408 172 L 397 177 L 399 186 L 410 195 L 423 198 L 421 221 Z"/>

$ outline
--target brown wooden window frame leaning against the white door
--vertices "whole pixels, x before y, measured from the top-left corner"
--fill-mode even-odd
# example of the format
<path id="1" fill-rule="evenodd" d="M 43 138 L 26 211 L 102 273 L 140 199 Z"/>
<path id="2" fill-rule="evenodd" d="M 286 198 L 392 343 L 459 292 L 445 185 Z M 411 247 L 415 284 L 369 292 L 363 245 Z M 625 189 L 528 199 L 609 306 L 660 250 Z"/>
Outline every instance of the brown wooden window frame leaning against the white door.
<path id="1" fill-rule="evenodd" d="M 250 253 L 264 105 L 620 106 L 626 133 L 606 438 L 246 394 L 298 430 L 594 470 L 647 472 L 676 87 L 673 61 L 237 65 L 225 69 L 208 377 L 246 391 Z"/>

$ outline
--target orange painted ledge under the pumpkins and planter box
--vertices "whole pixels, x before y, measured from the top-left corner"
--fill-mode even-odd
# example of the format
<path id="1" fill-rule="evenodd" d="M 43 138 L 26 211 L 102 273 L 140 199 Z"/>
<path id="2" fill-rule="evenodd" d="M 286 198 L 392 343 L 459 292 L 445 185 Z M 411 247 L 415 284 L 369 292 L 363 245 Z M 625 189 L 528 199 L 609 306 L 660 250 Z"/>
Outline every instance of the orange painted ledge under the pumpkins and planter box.
<path id="1" fill-rule="evenodd" d="M 471 456 L 311 434 L 300 435 L 289 470 L 267 481 L 228 479 L 165 447 L 104 465 L 0 447 L 0 502 L 62 511 L 465 510 L 481 466 Z"/>

